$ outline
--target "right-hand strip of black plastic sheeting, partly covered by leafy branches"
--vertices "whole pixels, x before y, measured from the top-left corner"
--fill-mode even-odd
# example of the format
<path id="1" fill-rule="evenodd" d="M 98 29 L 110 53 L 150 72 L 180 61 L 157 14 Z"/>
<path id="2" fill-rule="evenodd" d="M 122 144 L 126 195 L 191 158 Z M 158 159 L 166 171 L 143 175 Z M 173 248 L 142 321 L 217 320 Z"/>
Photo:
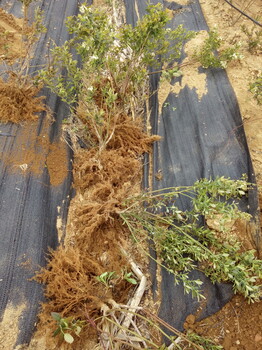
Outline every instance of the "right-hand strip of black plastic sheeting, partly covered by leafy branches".
<path id="1" fill-rule="evenodd" d="M 172 28 L 183 24 L 188 30 L 208 30 L 198 1 L 189 1 L 188 5 L 180 5 L 175 1 L 162 3 L 177 13 L 171 21 Z M 146 5 L 147 1 L 144 0 L 125 0 L 127 22 L 135 25 L 145 13 Z M 199 72 L 202 71 L 199 68 Z M 177 96 L 169 93 L 159 113 L 157 95 L 154 94 L 151 98 L 152 133 L 162 137 L 153 149 L 154 190 L 192 185 L 201 178 L 225 176 L 239 179 L 242 174 L 247 174 L 248 180 L 255 182 L 238 103 L 226 72 L 222 69 L 204 71 L 207 74 L 208 92 L 201 100 L 195 88 L 190 89 L 186 85 Z M 151 75 L 152 91 L 156 91 L 159 78 L 159 74 Z M 181 83 L 181 78 L 176 78 L 174 83 L 177 81 Z M 145 166 L 144 171 L 144 185 L 147 188 L 148 166 Z M 162 179 L 157 180 L 154 174 L 159 171 Z M 186 198 L 181 198 L 176 204 L 182 210 L 190 208 L 190 202 Z M 254 221 L 257 220 L 258 201 L 255 190 L 250 191 L 248 199 L 241 200 L 239 205 L 252 214 Z M 259 244 L 258 230 L 254 236 Z M 161 295 L 159 316 L 179 330 L 183 330 L 189 314 L 198 310 L 198 319 L 202 319 L 217 312 L 232 297 L 230 285 L 213 285 L 202 273 L 193 271 L 190 279 L 200 278 L 203 281 L 206 300 L 199 303 L 190 295 L 185 295 L 181 285 L 174 285 L 174 277 L 164 269 L 161 271 L 161 284 L 158 285 L 156 269 L 156 265 L 151 262 L 153 289 L 160 289 Z"/>

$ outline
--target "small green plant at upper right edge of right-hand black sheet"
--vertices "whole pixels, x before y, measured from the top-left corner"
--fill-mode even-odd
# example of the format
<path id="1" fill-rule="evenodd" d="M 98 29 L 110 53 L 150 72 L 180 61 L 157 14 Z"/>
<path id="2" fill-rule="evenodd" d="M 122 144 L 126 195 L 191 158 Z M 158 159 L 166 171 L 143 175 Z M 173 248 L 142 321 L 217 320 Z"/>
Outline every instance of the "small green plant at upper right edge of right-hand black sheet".
<path id="1" fill-rule="evenodd" d="M 238 52 L 241 47 L 240 43 L 219 50 L 222 43 L 223 39 L 218 35 L 216 29 L 210 30 L 204 44 L 199 50 L 195 51 L 194 58 L 197 59 L 204 68 L 226 68 L 229 62 L 243 58 Z M 219 52 L 217 52 L 217 50 L 219 50 Z"/>

